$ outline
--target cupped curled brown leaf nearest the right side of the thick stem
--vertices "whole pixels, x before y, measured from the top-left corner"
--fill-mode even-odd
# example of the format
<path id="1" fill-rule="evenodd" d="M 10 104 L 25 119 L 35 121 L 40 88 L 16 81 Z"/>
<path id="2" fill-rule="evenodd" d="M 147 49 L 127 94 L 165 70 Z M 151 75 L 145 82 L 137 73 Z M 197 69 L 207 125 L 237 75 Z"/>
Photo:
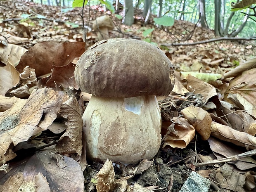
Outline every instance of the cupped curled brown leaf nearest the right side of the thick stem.
<path id="1" fill-rule="evenodd" d="M 168 132 L 164 136 L 164 146 L 170 145 L 180 149 L 185 148 L 190 141 L 194 138 L 195 130 L 194 127 L 185 118 L 173 118 L 175 124 L 171 124 L 168 127 Z"/>

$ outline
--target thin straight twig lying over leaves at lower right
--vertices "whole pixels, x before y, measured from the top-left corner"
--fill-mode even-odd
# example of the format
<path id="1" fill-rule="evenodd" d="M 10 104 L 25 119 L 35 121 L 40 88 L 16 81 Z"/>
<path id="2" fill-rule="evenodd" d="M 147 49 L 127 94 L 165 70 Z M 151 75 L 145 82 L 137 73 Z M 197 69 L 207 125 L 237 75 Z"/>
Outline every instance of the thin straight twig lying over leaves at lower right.
<path id="1" fill-rule="evenodd" d="M 235 161 L 238 161 L 239 159 L 242 159 L 244 157 L 253 156 L 253 155 L 256 155 L 256 149 L 253 149 L 253 150 L 251 150 L 249 152 L 241 153 L 239 155 L 225 157 L 223 159 L 217 159 L 217 160 L 213 160 L 213 161 L 210 161 L 210 162 L 194 164 L 194 166 L 201 167 L 201 166 L 209 166 L 209 165 L 221 164 L 221 163 L 225 163 L 225 162 L 235 162 Z"/>

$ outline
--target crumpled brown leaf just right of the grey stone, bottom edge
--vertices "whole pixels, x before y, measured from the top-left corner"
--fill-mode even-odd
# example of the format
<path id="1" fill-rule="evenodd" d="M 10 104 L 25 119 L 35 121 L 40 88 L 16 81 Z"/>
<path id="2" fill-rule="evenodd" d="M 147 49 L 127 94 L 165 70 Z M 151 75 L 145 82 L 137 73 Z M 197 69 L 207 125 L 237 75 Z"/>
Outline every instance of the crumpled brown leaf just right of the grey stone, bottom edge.
<path id="1" fill-rule="evenodd" d="M 217 169 L 215 178 L 224 189 L 229 189 L 235 192 L 245 192 L 243 188 L 245 176 L 237 173 L 233 167 L 228 164 L 224 164 Z"/>

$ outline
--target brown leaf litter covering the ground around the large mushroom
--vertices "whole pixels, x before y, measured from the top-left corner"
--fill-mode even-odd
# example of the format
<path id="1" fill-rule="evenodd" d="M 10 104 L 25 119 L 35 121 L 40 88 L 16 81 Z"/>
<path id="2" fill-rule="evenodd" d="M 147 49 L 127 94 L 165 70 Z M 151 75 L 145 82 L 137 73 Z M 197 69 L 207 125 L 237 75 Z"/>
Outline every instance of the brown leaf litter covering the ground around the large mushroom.
<path id="1" fill-rule="evenodd" d="M 104 14 L 101 6 L 91 8 L 89 26 Z M 174 66 L 175 87 L 168 97 L 158 98 L 162 145 L 154 159 L 129 166 L 101 164 L 86 161 L 81 114 L 90 94 L 81 92 L 73 78 L 78 58 L 97 42 L 89 30 L 83 43 L 81 8 L 62 12 L 60 7 L 1 1 L 0 9 L 5 10 L 0 18 L 1 190 L 175 192 L 191 171 L 210 179 L 212 191 L 255 190 L 253 44 L 174 46 L 175 40 L 191 43 L 214 34 L 187 21 L 153 32 L 153 18 L 142 28 L 137 9 L 131 27 L 109 14 L 117 29 L 111 38 L 143 40 L 145 31 L 152 31 L 152 43 Z M 26 12 L 31 16 L 21 21 Z"/>

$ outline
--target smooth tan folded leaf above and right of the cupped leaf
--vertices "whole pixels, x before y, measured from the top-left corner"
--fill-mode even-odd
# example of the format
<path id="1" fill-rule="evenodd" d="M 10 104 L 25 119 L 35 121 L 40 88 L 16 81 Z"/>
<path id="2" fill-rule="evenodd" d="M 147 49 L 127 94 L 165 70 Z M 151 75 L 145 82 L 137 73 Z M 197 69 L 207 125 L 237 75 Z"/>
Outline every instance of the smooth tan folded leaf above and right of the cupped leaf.
<path id="1" fill-rule="evenodd" d="M 185 118 L 194 126 L 201 135 L 202 140 L 207 140 L 211 135 L 211 116 L 200 107 L 190 105 L 181 111 Z"/>

